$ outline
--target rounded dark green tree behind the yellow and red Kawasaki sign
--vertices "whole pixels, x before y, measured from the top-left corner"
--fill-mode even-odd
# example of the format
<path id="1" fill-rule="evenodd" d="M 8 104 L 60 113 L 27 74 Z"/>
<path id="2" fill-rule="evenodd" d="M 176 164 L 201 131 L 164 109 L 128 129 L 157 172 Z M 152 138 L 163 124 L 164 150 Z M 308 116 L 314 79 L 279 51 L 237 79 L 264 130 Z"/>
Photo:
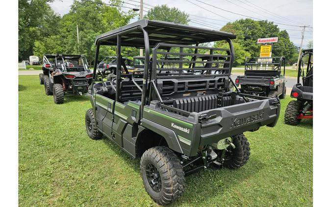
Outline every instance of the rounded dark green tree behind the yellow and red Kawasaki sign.
<path id="1" fill-rule="evenodd" d="M 287 31 L 280 31 L 278 26 L 272 22 L 240 19 L 228 23 L 221 30 L 235 34 L 237 38 L 233 42 L 240 44 L 243 50 L 250 52 L 254 57 L 258 57 L 260 52 L 260 45 L 256 44 L 258 38 L 279 37 L 278 42 L 273 43 L 272 56 L 285 56 L 287 63 L 296 51 Z"/>

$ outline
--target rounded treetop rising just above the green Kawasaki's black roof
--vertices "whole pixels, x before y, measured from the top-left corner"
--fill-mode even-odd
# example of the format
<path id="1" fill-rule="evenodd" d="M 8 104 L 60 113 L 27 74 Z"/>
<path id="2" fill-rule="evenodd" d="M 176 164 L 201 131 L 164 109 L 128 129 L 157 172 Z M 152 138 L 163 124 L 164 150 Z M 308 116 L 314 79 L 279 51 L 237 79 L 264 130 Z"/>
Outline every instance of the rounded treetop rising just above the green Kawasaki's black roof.
<path id="1" fill-rule="evenodd" d="M 178 8 L 170 8 L 166 4 L 154 6 L 144 16 L 145 19 L 172 22 L 176 24 L 188 25 L 189 14 L 180 11 Z"/>

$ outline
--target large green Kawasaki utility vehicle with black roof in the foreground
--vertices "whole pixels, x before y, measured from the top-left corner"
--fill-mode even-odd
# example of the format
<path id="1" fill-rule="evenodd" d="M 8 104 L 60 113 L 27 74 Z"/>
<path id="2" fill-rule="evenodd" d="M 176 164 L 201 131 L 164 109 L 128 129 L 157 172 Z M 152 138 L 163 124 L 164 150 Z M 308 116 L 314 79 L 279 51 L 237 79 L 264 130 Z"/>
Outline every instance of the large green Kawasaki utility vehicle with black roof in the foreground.
<path id="1" fill-rule="evenodd" d="M 141 74 L 124 74 L 117 61 L 116 76 L 92 83 L 87 94 L 92 104 L 85 115 L 87 134 L 92 139 L 104 135 L 131 157 L 141 157 L 144 186 L 158 204 L 172 203 L 183 194 L 184 176 L 209 166 L 235 169 L 246 164 L 250 146 L 243 132 L 277 123 L 277 98 L 244 95 L 238 88 L 227 92 L 234 38 L 227 32 L 149 20 L 96 38 L 94 69 L 101 46 L 116 46 L 117 59 L 121 47 L 143 48 L 144 62 L 149 64 L 137 71 Z M 230 49 L 199 46 L 214 41 L 224 41 Z M 157 67 L 163 63 L 176 67 Z M 198 63 L 206 67 L 196 68 Z M 186 72 L 196 69 L 200 73 Z"/>

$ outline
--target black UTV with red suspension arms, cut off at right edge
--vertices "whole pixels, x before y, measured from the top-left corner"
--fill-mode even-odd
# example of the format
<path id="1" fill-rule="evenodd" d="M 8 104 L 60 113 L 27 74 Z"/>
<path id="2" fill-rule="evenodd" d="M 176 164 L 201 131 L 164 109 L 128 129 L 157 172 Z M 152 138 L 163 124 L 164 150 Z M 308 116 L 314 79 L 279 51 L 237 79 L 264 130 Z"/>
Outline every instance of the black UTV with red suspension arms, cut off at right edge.
<path id="1" fill-rule="evenodd" d="M 313 118 L 313 49 L 304 50 L 299 63 L 298 83 L 291 91 L 291 97 L 297 100 L 288 103 L 284 115 L 285 123 L 289 125 Z"/>

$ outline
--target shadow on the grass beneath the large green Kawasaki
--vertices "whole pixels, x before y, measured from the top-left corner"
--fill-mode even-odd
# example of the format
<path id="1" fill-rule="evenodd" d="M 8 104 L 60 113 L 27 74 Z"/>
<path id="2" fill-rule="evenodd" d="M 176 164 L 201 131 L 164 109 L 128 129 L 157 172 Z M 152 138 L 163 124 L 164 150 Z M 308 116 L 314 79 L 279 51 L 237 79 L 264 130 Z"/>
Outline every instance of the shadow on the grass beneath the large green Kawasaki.
<path id="1" fill-rule="evenodd" d="M 132 159 L 119 146 L 106 137 L 103 137 L 102 141 L 110 150 L 119 155 L 119 157 L 122 157 L 129 167 L 140 174 L 140 158 Z M 229 188 L 247 180 L 263 168 L 263 164 L 258 159 L 252 157 L 248 161 L 248 164 L 254 166 L 254 168 L 240 168 L 236 170 L 208 168 L 206 171 L 202 170 L 189 177 L 185 177 L 186 186 L 183 196 L 170 206 L 190 206 L 192 204 L 191 196 L 193 194 L 200 195 L 198 200 L 219 196 L 218 194 L 210 192 L 214 190 L 217 190 L 217 192 L 228 192 Z"/>

